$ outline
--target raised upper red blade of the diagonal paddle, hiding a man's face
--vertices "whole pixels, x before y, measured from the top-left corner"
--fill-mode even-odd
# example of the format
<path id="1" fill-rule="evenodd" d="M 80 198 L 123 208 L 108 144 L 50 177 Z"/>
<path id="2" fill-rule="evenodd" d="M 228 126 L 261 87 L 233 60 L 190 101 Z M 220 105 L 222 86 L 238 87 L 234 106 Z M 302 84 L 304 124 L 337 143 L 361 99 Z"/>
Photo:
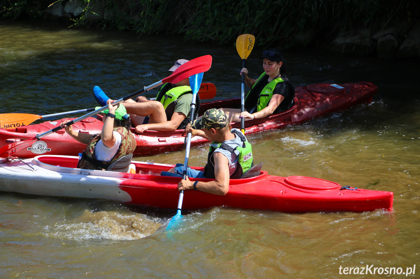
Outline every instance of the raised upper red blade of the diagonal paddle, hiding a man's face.
<path id="1" fill-rule="evenodd" d="M 177 83 L 182 80 L 191 77 L 192 75 L 206 72 L 210 69 L 212 62 L 211 55 L 204 55 L 197 57 L 193 60 L 178 67 L 175 72 L 167 78 L 162 80 L 163 83 Z"/>

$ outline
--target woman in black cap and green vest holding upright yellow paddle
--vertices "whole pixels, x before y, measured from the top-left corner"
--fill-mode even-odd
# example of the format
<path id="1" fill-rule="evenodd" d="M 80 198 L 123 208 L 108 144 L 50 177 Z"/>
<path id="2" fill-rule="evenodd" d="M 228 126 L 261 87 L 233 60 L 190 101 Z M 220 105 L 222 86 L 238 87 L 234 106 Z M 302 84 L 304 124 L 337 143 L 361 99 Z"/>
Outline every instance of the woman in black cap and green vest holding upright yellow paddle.
<path id="1" fill-rule="evenodd" d="M 245 98 L 245 111 L 240 109 L 223 109 L 229 122 L 263 118 L 278 114 L 293 106 L 294 88 L 286 77 L 286 66 L 283 64 L 283 54 L 279 49 L 262 51 L 262 67 L 264 73 L 259 78 L 248 76 L 248 69 L 243 68 L 240 75 L 245 75 L 245 84 L 251 88 Z"/>

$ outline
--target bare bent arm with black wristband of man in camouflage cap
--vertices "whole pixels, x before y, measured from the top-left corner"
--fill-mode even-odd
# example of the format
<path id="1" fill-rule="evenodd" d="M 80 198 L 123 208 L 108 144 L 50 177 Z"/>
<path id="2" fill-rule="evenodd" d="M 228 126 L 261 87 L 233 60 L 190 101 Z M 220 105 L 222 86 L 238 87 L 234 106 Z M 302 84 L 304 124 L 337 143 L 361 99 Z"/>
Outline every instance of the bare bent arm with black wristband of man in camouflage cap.
<path id="1" fill-rule="evenodd" d="M 215 159 L 215 181 L 199 181 L 196 184 L 196 189 L 201 192 L 224 196 L 229 191 L 229 161 L 220 152 L 215 152 L 213 156 Z M 193 190 L 194 182 L 187 177 L 186 180 L 181 180 L 178 183 L 178 190 Z"/>

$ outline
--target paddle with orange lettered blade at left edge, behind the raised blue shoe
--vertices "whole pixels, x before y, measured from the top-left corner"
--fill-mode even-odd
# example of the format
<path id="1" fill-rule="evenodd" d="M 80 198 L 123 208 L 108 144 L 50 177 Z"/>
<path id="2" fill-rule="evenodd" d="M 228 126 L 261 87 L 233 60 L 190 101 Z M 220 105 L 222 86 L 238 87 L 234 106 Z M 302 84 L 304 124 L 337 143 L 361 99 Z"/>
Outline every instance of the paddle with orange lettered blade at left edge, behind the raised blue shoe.
<path id="1" fill-rule="evenodd" d="M 211 99 L 216 96 L 216 86 L 213 83 L 202 83 L 200 87 L 200 91 L 198 92 L 199 96 L 202 100 L 204 99 Z M 151 98 L 156 99 L 156 98 Z M 3 129 L 11 129 L 17 128 L 21 126 L 26 126 L 31 124 L 32 122 L 42 119 L 42 118 L 51 118 L 60 115 L 70 115 L 70 114 L 77 114 L 77 113 L 88 113 L 94 111 L 95 108 L 90 109 L 83 109 L 77 111 L 70 111 L 64 113 L 56 113 L 51 115 L 31 115 L 31 114 L 0 114 L 0 128 Z"/>

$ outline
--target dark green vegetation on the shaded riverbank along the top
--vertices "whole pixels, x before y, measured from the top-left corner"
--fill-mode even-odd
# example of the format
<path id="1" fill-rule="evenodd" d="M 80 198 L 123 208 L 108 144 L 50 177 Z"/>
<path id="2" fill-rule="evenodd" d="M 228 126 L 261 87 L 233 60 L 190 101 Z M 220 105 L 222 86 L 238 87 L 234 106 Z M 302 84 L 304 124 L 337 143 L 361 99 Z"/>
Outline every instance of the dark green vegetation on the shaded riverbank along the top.
<path id="1" fill-rule="evenodd" d="M 0 17 L 55 16 L 74 26 L 182 34 L 187 40 L 217 44 L 233 44 L 238 34 L 252 33 L 257 46 L 338 46 L 342 52 L 347 51 L 338 36 L 360 40 L 365 33 L 369 38 L 362 34 L 364 42 L 359 44 L 366 55 L 376 47 L 370 37 L 381 30 L 393 28 L 392 44 L 401 46 L 420 16 L 418 0 L 58 0 L 50 5 L 51 1 L 0 0 Z"/>

